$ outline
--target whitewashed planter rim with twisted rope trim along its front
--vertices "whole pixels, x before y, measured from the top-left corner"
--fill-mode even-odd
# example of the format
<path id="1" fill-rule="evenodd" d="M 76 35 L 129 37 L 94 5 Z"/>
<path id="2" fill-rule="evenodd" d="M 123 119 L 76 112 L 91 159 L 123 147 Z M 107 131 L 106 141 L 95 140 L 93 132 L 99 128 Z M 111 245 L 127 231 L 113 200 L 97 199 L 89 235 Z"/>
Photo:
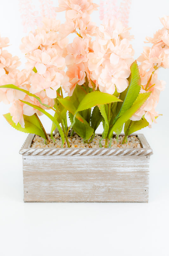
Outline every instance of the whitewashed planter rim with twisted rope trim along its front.
<path id="1" fill-rule="evenodd" d="M 148 156 L 153 154 L 153 150 L 143 134 L 131 134 L 130 136 L 137 136 L 141 142 L 142 148 L 31 148 L 30 146 L 35 134 L 29 134 L 19 154 L 23 156 Z"/>

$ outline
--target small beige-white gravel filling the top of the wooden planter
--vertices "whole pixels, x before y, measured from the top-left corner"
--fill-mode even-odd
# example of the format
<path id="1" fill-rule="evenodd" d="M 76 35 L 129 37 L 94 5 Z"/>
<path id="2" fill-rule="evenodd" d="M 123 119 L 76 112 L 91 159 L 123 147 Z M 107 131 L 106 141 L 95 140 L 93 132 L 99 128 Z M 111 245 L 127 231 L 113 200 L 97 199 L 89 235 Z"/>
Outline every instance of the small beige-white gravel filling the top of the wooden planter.
<path id="1" fill-rule="evenodd" d="M 56 135 L 54 136 L 55 138 L 55 142 L 53 142 L 53 140 L 51 140 L 51 138 L 49 137 L 49 144 L 46 145 L 44 143 L 44 139 L 41 138 L 38 135 L 35 135 L 35 138 L 33 139 L 32 148 L 61 148 L 61 137 L 59 135 L 59 133 L 56 133 Z M 136 136 L 131 136 L 128 137 L 127 143 L 125 144 L 121 144 L 123 141 L 124 136 L 119 136 L 118 142 L 116 140 L 116 137 L 112 139 L 112 148 L 130 148 L 130 149 L 140 149 L 142 148 L 141 144 L 140 144 L 140 140 L 136 137 Z M 71 148 L 99 148 L 99 141 L 101 139 L 100 135 L 95 135 L 93 141 L 91 143 L 83 143 L 83 139 L 80 138 L 77 134 L 72 136 L 72 137 L 68 137 L 68 141 L 70 144 Z M 108 140 L 108 145 L 109 145 L 109 140 Z M 103 147 L 105 147 L 105 140 L 101 141 L 101 144 Z M 63 145 L 63 148 L 68 148 L 67 143 L 65 142 Z"/>

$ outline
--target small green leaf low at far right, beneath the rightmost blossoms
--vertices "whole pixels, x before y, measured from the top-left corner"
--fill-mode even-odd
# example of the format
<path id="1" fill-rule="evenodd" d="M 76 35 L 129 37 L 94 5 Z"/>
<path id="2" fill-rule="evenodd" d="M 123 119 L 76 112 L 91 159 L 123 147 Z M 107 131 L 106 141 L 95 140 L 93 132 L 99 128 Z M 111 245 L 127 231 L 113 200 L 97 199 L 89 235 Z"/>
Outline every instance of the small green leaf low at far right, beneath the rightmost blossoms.
<path id="1" fill-rule="evenodd" d="M 125 123 L 125 126 L 124 126 L 124 133 L 126 134 L 127 132 L 127 128 L 129 126 L 129 123 L 130 123 L 131 120 L 128 120 L 126 123 Z M 139 121 L 133 121 L 132 122 L 132 125 L 128 131 L 128 133 L 126 134 L 127 136 L 142 129 L 142 128 L 145 128 L 146 126 L 149 125 L 149 122 L 147 122 L 147 120 L 145 119 L 145 117 L 143 116 L 141 120 Z"/>

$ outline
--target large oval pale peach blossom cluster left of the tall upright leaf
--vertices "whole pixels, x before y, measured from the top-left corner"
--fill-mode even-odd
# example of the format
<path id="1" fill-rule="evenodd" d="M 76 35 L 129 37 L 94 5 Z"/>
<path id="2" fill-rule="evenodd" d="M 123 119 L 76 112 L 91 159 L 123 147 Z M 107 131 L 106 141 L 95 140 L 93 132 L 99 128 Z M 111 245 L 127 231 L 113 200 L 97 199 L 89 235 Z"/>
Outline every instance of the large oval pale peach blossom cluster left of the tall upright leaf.
<path id="1" fill-rule="evenodd" d="M 88 53 L 88 69 L 96 88 L 113 94 L 123 92 L 128 86 L 130 65 L 133 62 L 132 37 L 129 29 L 117 20 L 104 20 Z"/>

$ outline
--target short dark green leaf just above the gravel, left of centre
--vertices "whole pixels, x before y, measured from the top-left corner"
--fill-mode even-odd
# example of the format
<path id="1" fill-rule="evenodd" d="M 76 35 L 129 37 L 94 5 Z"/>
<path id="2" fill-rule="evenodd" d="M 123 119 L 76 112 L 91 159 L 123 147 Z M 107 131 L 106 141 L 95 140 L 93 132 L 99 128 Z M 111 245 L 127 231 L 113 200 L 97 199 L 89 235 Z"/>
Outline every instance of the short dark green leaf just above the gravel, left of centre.
<path id="1" fill-rule="evenodd" d="M 71 123 L 73 123 L 73 114 L 69 113 L 69 118 Z M 94 133 L 94 129 L 88 124 L 86 120 L 84 120 L 82 123 L 77 118 L 75 119 L 73 130 L 84 140 L 88 140 Z"/>

